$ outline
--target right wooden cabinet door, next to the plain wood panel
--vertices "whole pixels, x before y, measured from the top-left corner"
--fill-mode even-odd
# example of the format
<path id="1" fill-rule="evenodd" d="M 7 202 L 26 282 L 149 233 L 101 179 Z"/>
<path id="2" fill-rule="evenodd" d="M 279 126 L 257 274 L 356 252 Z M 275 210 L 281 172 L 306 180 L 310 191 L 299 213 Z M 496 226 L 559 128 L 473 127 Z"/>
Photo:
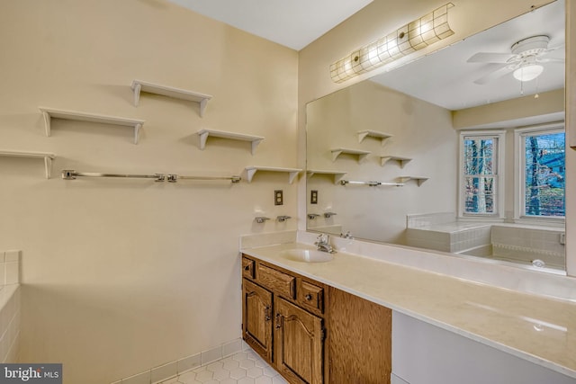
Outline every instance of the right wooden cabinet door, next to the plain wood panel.
<path id="1" fill-rule="evenodd" d="M 274 360 L 291 383 L 323 382 L 322 319 L 292 303 L 275 301 Z"/>

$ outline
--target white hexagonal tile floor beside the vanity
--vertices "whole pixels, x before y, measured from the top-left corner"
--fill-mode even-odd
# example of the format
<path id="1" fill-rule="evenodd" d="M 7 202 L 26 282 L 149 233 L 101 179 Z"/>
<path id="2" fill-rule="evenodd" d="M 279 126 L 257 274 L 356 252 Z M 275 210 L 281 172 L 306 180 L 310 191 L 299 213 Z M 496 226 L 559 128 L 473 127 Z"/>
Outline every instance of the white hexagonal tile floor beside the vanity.
<path id="1" fill-rule="evenodd" d="M 288 384 L 282 376 L 247 349 L 182 373 L 162 384 Z"/>

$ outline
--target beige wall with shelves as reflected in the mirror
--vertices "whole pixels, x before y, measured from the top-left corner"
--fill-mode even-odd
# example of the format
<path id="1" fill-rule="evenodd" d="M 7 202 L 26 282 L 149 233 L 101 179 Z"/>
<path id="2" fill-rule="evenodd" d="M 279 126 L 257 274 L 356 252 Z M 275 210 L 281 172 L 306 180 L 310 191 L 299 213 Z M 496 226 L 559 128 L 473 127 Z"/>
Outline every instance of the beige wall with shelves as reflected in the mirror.
<path id="1" fill-rule="evenodd" d="M 311 205 L 307 193 L 309 211 L 334 211 L 338 216 L 317 218 L 309 221 L 311 226 L 334 222 L 354 237 L 406 245 L 406 215 L 456 212 L 458 133 L 452 129 L 449 111 L 373 82 L 329 94 L 309 103 L 306 110 L 309 169 L 344 171 L 343 178 L 353 181 L 396 183 L 403 175 L 429 178 L 421 186 L 412 181 L 399 188 L 335 186 L 333 177 L 313 176 L 307 181 L 308 190 L 319 192 L 319 203 Z M 365 138 L 359 144 L 357 132 L 365 129 L 383 131 L 392 138 L 384 142 Z M 330 149 L 338 147 L 371 154 L 362 162 L 358 156 L 338 156 L 332 161 Z M 403 167 L 392 160 L 381 165 L 384 155 L 412 160 Z"/>

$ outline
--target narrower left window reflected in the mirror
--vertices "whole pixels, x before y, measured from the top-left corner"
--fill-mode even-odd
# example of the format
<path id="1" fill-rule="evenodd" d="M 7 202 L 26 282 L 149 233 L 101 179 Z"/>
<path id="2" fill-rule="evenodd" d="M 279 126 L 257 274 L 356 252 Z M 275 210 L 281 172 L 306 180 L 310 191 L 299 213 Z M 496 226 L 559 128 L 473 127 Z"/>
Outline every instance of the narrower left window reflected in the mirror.
<path id="1" fill-rule="evenodd" d="M 504 132 L 461 134 L 461 215 L 500 217 Z"/>

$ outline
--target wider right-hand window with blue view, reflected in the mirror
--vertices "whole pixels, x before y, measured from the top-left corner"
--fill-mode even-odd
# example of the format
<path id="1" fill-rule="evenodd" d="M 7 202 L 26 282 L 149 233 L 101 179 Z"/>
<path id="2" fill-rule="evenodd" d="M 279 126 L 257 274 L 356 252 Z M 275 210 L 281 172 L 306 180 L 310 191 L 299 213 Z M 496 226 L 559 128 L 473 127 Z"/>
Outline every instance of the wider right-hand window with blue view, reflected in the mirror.
<path id="1" fill-rule="evenodd" d="M 519 219 L 563 219 L 565 133 L 563 127 L 518 129 Z"/>

